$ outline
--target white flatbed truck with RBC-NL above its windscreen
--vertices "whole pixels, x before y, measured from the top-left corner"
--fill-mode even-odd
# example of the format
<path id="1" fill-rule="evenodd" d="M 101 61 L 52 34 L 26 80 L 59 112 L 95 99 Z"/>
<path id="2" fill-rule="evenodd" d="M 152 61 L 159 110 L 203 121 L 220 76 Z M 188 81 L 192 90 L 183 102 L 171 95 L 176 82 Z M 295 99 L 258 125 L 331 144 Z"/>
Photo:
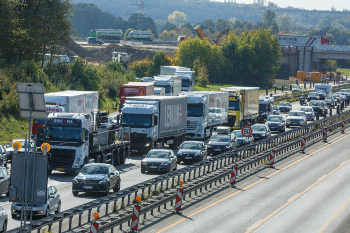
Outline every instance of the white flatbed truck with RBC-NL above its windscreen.
<path id="1" fill-rule="evenodd" d="M 130 128 L 98 133 L 98 113 L 93 121 L 84 113 L 50 113 L 45 125 L 43 141 L 50 144 L 49 173 L 52 170 L 74 172 L 85 164 L 124 164 L 129 154 Z"/>

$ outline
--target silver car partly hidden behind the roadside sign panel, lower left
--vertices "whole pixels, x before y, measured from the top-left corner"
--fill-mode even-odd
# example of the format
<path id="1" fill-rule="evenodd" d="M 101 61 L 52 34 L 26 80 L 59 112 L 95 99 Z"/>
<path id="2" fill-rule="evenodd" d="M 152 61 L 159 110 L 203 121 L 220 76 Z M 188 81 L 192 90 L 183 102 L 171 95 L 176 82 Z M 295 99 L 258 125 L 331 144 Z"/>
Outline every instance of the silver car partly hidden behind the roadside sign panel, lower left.
<path id="1" fill-rule="evenodd" d="M 47 186 L 45 204 L 33 204 L 33 216 L 49 216 L 50 213 L 59 213 L 61 211 L 61 198 L 58 190 L 54 185 Z M 16 218 L 17 215 L 21 215 L 22 203 L 12 202 L 11 204 L 11 216 Z"/>

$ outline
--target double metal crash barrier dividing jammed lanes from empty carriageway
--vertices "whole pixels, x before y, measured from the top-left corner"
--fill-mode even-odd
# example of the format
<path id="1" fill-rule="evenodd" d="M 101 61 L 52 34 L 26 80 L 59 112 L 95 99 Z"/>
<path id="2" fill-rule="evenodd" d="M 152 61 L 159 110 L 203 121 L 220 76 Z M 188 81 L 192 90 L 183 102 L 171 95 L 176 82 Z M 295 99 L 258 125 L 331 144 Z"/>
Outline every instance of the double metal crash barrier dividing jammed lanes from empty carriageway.
<path id="1" fill-rule="evenodd" d="M 31 225 L 32 230 L 28 231 L 39 233 L 45 228 L 48 231 L 52 230 L 53 232 L 60 233 L 81 227 L 82 225 L 85 227 L 86 223 L 90 226 L 93 210 L 99 212 L 101 218 L 107 215 L 110 216 L 111 214 L 116 215 L 114 217 L 109 217 L 109 221 L 99 220 L 98 232 L 104 232 L 117 226 L 121 228 L 122 224 L 125 222 L 128 222 L 130 225 L 133 211 L 128 210 L 126 207 L 131 206 L 130 204 L 132 204 L 133 199 L 138 194 L 141 194 L 141 199 L 145 200 L 145 197 L 150 197 L 153 193 L 155 195 L 171 187 L 176 187 L 180 180 L 186 183 L 200 179 L 201 182 L 193 186 L 183 187 L 183 198 L 185 200 L 186 194 L 191 195 L 191 192 L 196 193 L 197 189 L 201 191 L 202 187 L 211 185 L 211 182 L 216 182 L 218 179 L 222 179 L 225 176 L 230 179 L 229 175 L 232 172 L 232 165 L 237 166 L 237 172 L 242 169 L 245 171 L 245 169 L 249 169 L 249 166 L 258 164 L 261 160 L 269 159 L 268 157 L 270 156 L 270 150 L 272 148 L 275 150 L 275 156 L 281 155 L 291 148 L 300 147 L 300 137 L 306 138 L 306 142 L 322 137 L 323 128 L 334 131 L 335 128 L 341 127 L 342 121 L 340 120 L 345 119 L 344 121 L 349 123 L 349 117 L 350 111 L 347 110 L 340 114 L 333 115 L 332 117 L 309 123 L 304 127 L 295 128 L 275 135 L 270 139 L 261 140 L 251 145 L 244 146 L 243 148 L 209 158 L 206 161 L 155 177 L 119 192 L 35 221 Z M 229 168 L 227 166 L 229 166 Z M 219 174 L 218 171 L 223 168 L 227 169 L 225 169 L 224 173 Z M 208 175 L 211 178 L 201 179 Z M 143 203 L 140 205 L 140 214 L 146 214 L 149 211 L 151 211 L 152 214 L 155 208 L 159 209 L 161 205 L 166 205 L 169 201 L 171 201 L 172 205 L 176 195 L 176 192 L 172 194 L 163 194 L 162 197 L 157 197 L 149 203 Z M 10 230 L 9 232 L 19 232 L 19 228 Z M 85 231 L 81 229 L 81 232 Z"/>

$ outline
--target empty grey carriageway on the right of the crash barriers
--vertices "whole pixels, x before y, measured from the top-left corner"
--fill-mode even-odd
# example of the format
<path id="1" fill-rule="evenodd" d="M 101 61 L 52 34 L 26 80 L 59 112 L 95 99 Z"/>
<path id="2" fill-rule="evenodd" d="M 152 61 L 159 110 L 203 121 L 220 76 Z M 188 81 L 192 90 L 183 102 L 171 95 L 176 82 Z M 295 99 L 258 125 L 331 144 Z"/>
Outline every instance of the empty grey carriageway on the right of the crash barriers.
<path id="1" fill-rule="evenodd" d="M 236 183 L 219 185 L 196 204 L 187 199 L 182 215 L 163 212 L 141 232 L 348 232 L 350 210 L 349 134 L 277 160 Z M 242 175 L 244 176 L 244 174 Z M 239 180 L 240 177 L 238 176 Z M 196 199 L 196 198 L 195 198 Z M 164 217 L 163 217 L 164 216 Z M 154 224 L 152 224 L 152 222 Z"/>

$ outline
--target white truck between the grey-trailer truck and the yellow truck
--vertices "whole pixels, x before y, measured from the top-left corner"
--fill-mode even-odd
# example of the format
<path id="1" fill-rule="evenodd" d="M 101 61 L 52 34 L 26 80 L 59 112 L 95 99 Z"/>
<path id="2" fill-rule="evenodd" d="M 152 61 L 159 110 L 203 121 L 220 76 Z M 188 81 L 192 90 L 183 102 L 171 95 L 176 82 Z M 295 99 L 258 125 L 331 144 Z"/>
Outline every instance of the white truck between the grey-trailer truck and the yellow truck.
<path id="1" fill-rule="evenodd" d="M 204 140 L 218 127 L 228 122 L 228 92 L 192 91 L 187 96 L 186 138 Z"/>

